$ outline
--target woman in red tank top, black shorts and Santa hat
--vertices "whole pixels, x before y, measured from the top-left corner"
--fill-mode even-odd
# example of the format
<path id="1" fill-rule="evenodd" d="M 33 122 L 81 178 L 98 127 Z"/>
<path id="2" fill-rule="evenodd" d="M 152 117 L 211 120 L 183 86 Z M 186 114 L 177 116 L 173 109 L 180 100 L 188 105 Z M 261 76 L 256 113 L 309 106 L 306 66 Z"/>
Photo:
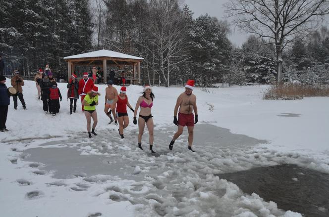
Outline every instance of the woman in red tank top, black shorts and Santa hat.
<path id="1" fill-rule="evenodd" d="M 129 125 L 129 117 L 127 113 L 127 106 L 130 108 L 132 112 L 135 112 L 135 110 L 132 108 L 128 101 L 128 97 L 126 95 L 127 89 L 126 87 L 120 88 L 120 94 L 117 95 L 113 100 L 113 105 L 116 105 L 116 118 L 119 123 L 119 135 L 121 138 L 124 138 L 123 136 L 123 129 L 128 127 Z"/>

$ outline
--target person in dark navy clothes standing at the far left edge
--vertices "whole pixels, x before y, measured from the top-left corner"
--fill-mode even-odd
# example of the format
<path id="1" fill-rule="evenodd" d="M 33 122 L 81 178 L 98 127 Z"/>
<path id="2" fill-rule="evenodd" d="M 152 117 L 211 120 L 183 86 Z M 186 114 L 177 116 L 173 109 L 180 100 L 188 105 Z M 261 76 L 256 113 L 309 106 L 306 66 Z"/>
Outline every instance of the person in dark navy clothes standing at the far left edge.
<path id="1" fill-rule="evenodd" d="M 8 88 L 4 84 L 6 78 L 0 75 L 0 131 L 8 131 L 6 128 L 8 105 L 10 104 L 10 96 L 8 93 Z"/>

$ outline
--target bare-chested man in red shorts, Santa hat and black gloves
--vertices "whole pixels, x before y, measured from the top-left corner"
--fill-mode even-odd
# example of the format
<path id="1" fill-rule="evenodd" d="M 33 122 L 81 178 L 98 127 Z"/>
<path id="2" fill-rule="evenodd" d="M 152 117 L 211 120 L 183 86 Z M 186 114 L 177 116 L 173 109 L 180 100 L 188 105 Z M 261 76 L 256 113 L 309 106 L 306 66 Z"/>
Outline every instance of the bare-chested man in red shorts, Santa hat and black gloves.
<path id="1" fill-rule="evenodd" d="M 175 140 L 183 133 L 183 129 L 187 126 L 188 130 L 188 149 L 192 150 L 193 143 L 193 130 L 194 125 L 198 123 L 198 108 L 197 108 L 197 98 L 192 93 L 194 89 L 194 80 L 188 80 L 185 85 L 185 91 L 181 93 L 175 105 L 173 112 L 173 123 L 178 126 L 177 132 L 173 135 L 173 138 L 169 144 L 169 150 L 172 150 L 173 143 Z M 177 111 L 178 120 L 177 120 Z M 193 111 L 195 116 L 193 115 Z"/>

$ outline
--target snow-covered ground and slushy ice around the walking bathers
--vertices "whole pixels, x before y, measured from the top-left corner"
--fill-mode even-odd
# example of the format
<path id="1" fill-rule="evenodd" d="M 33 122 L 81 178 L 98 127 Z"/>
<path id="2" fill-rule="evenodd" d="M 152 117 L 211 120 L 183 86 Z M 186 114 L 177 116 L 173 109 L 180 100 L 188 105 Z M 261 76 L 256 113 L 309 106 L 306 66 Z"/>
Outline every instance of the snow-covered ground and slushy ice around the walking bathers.
<path id="1" fill-rule="evenodd" d="M 43 112 L 34 82 L 23 87 L 28 110 L 19 101 L 14 110 L 11 99 L 10 131 L 0 133 L 1 216 L 301 217 L 243 193 L 220 174 L 282 163 L 329 173 L 328 97 L 272 101 L 262 100 L 267 86 L 195 88 L 199 123 L 192 153 L 186 131 L 168 150 L 176 130 L 173 108 L 184 88 L 153 87 L 152 155 L 147 130 L 144 152 L 137 148 L 130 110 L 124 139 L 108 125 L 105 85 L 99 85 L 98 135 L 91 139 L 80 101 L 69 115 L 66 84 L 58 87 L 63 101 L 55 117 Z M 127 87 L 133 107 L 141 91 Z"/>

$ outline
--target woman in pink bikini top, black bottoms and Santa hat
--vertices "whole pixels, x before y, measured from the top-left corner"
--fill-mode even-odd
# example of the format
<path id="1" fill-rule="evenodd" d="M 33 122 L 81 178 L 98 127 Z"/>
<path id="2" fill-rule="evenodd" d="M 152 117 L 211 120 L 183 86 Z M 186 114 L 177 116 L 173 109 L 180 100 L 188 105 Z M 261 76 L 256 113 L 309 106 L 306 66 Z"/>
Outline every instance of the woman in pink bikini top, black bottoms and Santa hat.
<path id="1" fill-rule="evenodd" d="M 143 95 L 140 96 L 137 100 L 135 112 L 134 112 L 134 124 L 137 124 L 137 110 L 139 107 L 141 107 L 141 111 L 139 112 L 139 118 L 138 118 L 138 147 L 143 150 L 141 142 L 142 142 L 142 135 L 144 133 L 145 124 L 147 129 L 149 130 L 149 142 L 150 142 L 150 151 L 152 153 L 156 153 L 153 151 L 153 119 L 151 114 L 151 108 L 153 106 L 153 99 L 154 94 L 152 92 L 152 88 L 150 86 L 145 86 L 143 89 Z"/>

